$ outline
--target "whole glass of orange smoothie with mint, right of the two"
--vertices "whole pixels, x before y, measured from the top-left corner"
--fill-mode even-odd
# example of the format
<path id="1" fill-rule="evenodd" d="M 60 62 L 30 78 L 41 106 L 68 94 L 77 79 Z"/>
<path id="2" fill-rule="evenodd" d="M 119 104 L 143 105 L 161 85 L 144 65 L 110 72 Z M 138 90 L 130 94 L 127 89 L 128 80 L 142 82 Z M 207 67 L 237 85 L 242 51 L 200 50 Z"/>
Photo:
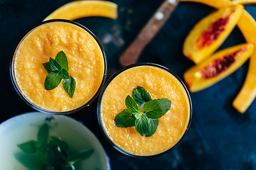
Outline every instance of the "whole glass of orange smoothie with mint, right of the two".
<path id="1" fill-rule="evenodd" d="M 148 94 L 143 91 L 134 93 L 137 89 L 145 89 Z M 127 98 L 136 99 L 136 95 L 141 95 L 142 98 L 151 96 L 146 103 L 144 100 L 138 104 L 134 100 L 140 111 L 132 111 L 132 107 L 137 108 L 137 106 L 132 106 L 133 102 L 127 100 Z M 165 107 L 165 103 L 156 104 L 161 100 L 159 98 L 171 101 L 171 108 L 167 108 L 161 118 L 154 119 L 157 128 L 153 134 L 149 134 L 152 131 L 143 133 L 141 131 L 143 128 L 139 123 L 136 124 L 154 109 L 159 111 L 158 106 Z M 122 123 L 129 127 L 119 127 L 121 120 L 117 122 L 117 117 L 121 114 Z M 181 79 L 166 67 L 151 63 L 132 64 L 116 72 L 103 87 L 97 106 L 100 127 L 107 140 L 119 152 L 133 157 L 152 157 L 174 148 L 186 134 L 191 115 L 191 97 Z M 153 120 L 148 117 L 146 121 Z M 154 123 L 150 126 L 154 126 Z"/>

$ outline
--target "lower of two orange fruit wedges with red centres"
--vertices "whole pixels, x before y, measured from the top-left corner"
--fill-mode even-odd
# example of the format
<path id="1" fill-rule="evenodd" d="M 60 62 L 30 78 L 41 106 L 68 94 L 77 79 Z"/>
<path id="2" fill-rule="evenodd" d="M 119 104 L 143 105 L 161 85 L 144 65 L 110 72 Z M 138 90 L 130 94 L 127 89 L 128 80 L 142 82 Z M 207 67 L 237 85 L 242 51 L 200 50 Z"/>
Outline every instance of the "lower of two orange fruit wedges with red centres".
<path id="1" fill-rule="evenodd" d="M 254 45 L 245 43 L 216 52 L 201 64 L 188 69 L 184 79 L 191 92 L 201 91 L 235 72 L 252 55 Z"/>

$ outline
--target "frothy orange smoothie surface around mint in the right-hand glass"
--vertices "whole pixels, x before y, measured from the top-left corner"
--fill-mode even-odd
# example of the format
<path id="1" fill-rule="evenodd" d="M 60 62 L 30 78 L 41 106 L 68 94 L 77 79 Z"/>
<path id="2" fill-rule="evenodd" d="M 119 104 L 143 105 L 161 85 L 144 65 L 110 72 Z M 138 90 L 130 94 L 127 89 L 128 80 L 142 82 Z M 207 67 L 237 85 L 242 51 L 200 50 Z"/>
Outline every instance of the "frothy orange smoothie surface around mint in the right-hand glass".
<path id="1" fill-rule="evenodd" d="M 125 98 L 142 86 L 152 99 L 168 98 L 171 108 L 159 118 L 159 126 L 151 137 L 132 128 L 118 128 L 114 118 L 123 111 Z M 191 101 L 183 84 L 170 72 L 155 65 L 139 65 L 118 74 L 102 94 L 100 101 L 102 128 L 114 145 L 136 156 L 161 154 L 174 147 L 185 134 L 191 119 Z"/>

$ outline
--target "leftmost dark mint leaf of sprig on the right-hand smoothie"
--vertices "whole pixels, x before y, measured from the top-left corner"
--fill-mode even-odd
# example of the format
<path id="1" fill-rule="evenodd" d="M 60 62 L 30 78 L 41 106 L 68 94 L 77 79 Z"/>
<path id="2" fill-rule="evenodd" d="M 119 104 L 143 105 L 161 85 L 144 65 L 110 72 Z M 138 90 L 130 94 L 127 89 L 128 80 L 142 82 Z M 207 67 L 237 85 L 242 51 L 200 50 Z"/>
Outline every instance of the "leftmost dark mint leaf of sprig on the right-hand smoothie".
<path id="1" fill-rule="evenodd" d="M 114 123 L 119 128 L 128 128 L 135 125 L 135 120 L 134 115 L 128 109 L 125 109 L 116 115 Z"/>

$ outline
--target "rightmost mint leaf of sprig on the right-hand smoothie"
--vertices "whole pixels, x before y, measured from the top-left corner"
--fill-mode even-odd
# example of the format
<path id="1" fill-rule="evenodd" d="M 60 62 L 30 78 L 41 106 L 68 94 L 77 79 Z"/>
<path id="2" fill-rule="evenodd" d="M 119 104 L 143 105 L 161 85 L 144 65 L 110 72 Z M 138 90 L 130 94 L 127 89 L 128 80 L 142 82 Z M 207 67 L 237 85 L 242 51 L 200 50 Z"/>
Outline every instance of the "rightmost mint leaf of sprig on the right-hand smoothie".
<path id="1" fill-rule="evenodd" d="M 167 98 L 148 101 L 143 106 L 146 117 L 151 119 L 161 118 L 171 108 L 171 101 Z"/>

